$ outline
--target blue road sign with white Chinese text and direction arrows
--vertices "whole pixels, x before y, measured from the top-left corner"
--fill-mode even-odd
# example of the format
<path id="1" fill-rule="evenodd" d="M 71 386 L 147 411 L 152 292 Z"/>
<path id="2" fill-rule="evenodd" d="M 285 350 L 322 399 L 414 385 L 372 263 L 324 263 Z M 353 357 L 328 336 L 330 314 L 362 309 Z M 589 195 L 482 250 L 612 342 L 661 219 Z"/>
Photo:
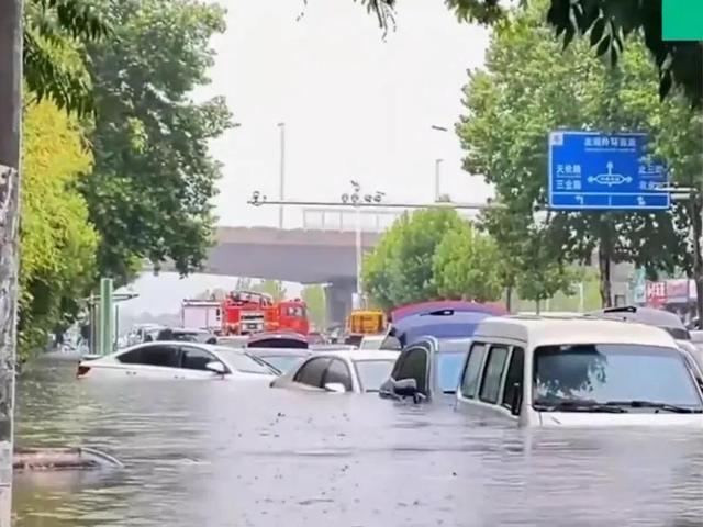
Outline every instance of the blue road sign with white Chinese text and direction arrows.
<path id="1" fill-rule="evenodd" d="M 666 165 L 647 154 L 647 135 L 549 134 L 549 208 L 651 211 L 671 206 Z"/>

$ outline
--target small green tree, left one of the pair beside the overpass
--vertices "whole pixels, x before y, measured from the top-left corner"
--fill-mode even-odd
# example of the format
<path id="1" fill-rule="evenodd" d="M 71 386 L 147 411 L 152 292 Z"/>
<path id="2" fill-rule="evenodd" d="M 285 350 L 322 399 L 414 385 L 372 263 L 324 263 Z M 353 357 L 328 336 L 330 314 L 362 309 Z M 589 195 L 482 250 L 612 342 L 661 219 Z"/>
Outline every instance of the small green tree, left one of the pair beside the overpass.
<path id="1" fill-rule="evenodd" d="M 369 295 L 384 310 L 437 298 L 434 255 L 443 235 L 465 223 L 456 211 L 429 209 L 403 214 L 362 266 Z"/>

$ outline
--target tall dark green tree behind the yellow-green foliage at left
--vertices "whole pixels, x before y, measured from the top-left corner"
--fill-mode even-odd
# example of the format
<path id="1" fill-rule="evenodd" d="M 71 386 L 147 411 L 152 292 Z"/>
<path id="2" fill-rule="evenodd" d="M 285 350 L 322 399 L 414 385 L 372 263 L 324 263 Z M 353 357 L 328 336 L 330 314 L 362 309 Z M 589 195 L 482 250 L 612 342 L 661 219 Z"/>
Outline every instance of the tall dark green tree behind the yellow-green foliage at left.
<path id="1" fill-rule="evenodd" d="M 222 98 L 194 102 L 209 82 L 217 5 L 194 0 L 103 0 L 112 34 L 89 46 L 96 164 L 80 190 L 101 234 L 100 270 L 119 281 L 147 258 L 198 269 L 212 242 L 221 167 L 208 143 L 231 124 Z"/>

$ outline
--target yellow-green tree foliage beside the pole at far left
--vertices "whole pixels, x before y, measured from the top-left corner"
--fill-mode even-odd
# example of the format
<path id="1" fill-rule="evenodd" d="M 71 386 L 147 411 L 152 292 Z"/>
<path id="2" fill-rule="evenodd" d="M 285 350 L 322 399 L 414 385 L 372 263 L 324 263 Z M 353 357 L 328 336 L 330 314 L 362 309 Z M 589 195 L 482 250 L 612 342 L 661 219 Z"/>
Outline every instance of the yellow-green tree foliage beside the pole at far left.
<path id="1" fill-rule="evenodd" d="M 90 168 L 74 119 L 51 102 L 24 114 L 20 354 L 43 347 L 66 327 L 96 279 L 98 235 L 74 184 Z"/>

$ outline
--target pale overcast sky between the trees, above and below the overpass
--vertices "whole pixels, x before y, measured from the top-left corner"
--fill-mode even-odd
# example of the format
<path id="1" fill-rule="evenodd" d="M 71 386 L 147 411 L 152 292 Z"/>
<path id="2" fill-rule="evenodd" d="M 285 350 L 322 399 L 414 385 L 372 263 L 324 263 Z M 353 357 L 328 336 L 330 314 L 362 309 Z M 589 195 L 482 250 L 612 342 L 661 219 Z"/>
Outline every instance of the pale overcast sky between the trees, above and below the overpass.
<path id="1" fill-rule="evenodd" d="M 386 41 L 353 0 L 219 3 L 228 11 L 227 31 L 213 42 L 213 82 L 199 97 L 225 96 L 242 123 L 212 145 L 224 164 L 220 224 L 277 224 L 276 208 L 246 201 L 254 190 L 278 195 L 279 122 L 287 128 L 288 199 L 336 201 L 355 179 L 388 201 L 428 202 L 437 158 L 442 192 L 456 201 L 489 195 L 480 178 L 461 171 L 454 134 L 466 71 L 483 61 L 486 30 L 458 23 L 442 0 L 399 2 L 397 31 Z M 301 223 L 300 210 L 286 211 L 286 226 Z M 142 298 L 125 309 L 176 311 L 185 295 L 217 279 L 175 280 L 140 280 Z"/>

